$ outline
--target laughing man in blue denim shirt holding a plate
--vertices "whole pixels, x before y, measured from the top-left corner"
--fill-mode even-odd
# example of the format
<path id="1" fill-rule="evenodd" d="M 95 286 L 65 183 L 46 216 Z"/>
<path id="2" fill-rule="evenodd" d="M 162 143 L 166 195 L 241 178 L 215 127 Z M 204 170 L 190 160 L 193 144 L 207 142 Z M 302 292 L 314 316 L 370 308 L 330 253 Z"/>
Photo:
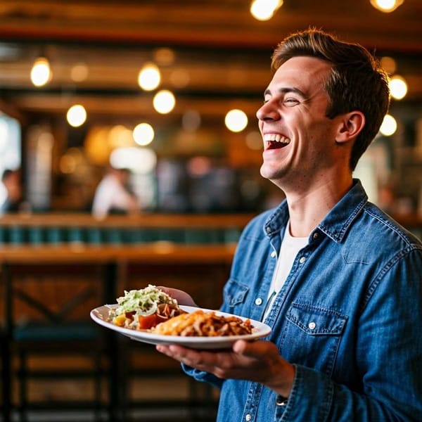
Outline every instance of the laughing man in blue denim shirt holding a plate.
<path id="1" fill-rule="evenodd" d="M 319 30 L 287 37 L 272 67 L 261 175 L 286 200 L 245 227 L 221 307 L 271 334 L 156 348 L 220 389 L 217 422 L 421 421 L 422 244 L 352 177 L 388 111 L 388 75 Z"/>

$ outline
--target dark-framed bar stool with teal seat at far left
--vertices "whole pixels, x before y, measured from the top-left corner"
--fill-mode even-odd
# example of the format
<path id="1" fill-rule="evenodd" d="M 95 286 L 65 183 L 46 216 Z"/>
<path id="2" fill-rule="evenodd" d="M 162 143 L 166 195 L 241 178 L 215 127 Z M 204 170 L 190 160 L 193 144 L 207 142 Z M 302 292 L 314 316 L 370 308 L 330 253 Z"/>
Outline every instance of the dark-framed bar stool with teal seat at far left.
<path id="1" fill-rule="evenodd" d="M 93 307 L 109 300 L 105 285 L 106 276 L 110 276 L 108 267 L 4 262 L 1 275 L 6 310 L 5 341 L 1 347 L 4 422 L 10 420 L 11 411 L 15 410 L 19 421 L 24 422 L 30 411 L 84 408 L 95 415 L 96 421 L 113 420 L 110 415 L 113 389 L 110 385 L 107 390 L 104 388 L 112 382 L 112 343 L 107 331 L 89 319 Z M 63 358 L 60 366 L 51 367 L 59 357 Z M 44 366 L 34 366 L 34 359 L 41 359 Z M 51 389 L 54 395 L 58 381 L 88 380 L 93 385 L 94 397 L 77 401 L 47 397 L 45 401 L 34 402 L 30 384 L 40 379 L 54 383 Z M 16 404 L 11 398 L 14 391 L 18 392 Z"/>

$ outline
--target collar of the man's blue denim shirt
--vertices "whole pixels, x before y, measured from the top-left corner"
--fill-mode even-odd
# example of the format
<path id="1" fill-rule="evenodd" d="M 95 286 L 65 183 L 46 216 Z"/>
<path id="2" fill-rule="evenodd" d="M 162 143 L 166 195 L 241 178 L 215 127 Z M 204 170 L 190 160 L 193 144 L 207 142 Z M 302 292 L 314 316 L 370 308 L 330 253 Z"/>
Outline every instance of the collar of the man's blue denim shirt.
<path id="1" fill-rule="evenodd" d="M 368 196 L 359 179 L 353 179 L 352 188 L 341 198 L 330 212 L 324 217 L 317 228 L 324 232 L 335 242 L 343 241 L 347 229 L 353 220 L 359 215 L 368 202 Z M 264 224 L 264 232 L 267 236 L 279 234 L 289 219 L 286 200 L 274 210 Z"/>

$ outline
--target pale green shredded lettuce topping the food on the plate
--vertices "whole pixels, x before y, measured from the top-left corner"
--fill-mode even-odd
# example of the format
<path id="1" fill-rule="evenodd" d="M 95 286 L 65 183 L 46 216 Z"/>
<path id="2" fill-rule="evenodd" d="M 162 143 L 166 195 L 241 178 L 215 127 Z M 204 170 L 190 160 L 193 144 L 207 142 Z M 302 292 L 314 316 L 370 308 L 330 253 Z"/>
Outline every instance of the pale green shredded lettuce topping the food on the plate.
<path id="1" fill-rule="evenodd" d="M 135 312 L 136 315 L 151 315 L 162 303 L 177 306 L 177 300 L 150 284 L 141 290 L 124 290 L 124 296 L 117 298 L 118 306 L 114 313 L 120 315 L 124 312 Z"/>

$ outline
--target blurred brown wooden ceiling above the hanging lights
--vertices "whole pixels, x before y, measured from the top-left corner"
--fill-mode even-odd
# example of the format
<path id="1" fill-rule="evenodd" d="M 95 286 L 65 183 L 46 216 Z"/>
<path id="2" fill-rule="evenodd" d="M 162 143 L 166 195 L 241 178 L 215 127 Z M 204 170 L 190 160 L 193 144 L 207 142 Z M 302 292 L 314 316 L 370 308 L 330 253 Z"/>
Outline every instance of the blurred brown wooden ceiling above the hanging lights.
<path id="1" fill-rule="evenodd" d="M 422 102 L 421 0 L 405 0 L 393 13 L 377 11 L 369 0 L 284 0 L 266 22 L 252 18 L 249 6 L 250 0 L 3 0 L 0 110 L 39 119 L 82 103 L 98 121 L 142 116 L 169 124 L 186 110 L 210 120 L 233 107 L 253 116 L 274 46 L 309 26 L 395 58 L 409 84 L 407 101 Z M 163 48 L 172 50 L 172 60 Z M 41 53 L 53 79 L 35 88 L 30 68 Z M 151 60 L 162 70 L 161 87 L 177 96 L 171 115 L 158 116 L 153 94 L 137 86 L 139 69 Z M 81 82 L 71 78 L 78 63 L 89 69 Z"/>

